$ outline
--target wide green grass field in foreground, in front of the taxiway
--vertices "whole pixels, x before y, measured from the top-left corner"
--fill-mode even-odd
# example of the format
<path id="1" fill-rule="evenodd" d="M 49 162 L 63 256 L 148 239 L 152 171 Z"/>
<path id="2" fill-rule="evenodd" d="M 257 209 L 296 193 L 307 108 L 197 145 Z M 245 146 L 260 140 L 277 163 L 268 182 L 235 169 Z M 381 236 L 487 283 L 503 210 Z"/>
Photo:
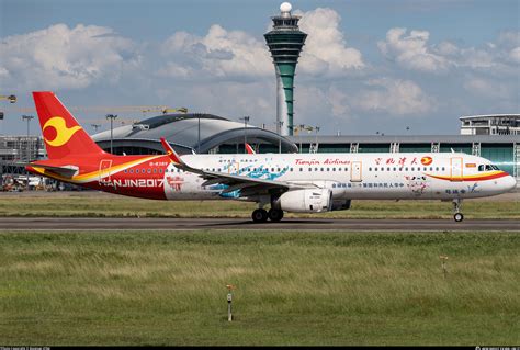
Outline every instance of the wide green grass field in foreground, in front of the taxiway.
<path id="1" fill-rule="evenodd" d="M 519 251 L 518 233 L 0 233 L 0 343 L 518 345 Z"/>

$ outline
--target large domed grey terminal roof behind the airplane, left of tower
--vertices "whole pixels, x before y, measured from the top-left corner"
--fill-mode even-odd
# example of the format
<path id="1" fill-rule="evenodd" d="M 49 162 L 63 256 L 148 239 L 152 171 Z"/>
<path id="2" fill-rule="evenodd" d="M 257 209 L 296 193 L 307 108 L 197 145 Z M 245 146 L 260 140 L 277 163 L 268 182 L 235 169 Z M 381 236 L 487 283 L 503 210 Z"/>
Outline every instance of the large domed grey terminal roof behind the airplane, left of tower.
<path id="1" fill-rule="evenodd" d="M 285 137 L 253 125 L 229 121 L 225 117 L 203 114 L 165 114 L 133 125 L 113 129 L 113 154 L 162 154 L 160 138 L 165 137 L 181 155 L 191 154 L 242 154 L 247 142 L 259 153 L 296 153 L 297 147 Z M 110 151 L 110 131 L 92 136 L 104 150 Z"/>

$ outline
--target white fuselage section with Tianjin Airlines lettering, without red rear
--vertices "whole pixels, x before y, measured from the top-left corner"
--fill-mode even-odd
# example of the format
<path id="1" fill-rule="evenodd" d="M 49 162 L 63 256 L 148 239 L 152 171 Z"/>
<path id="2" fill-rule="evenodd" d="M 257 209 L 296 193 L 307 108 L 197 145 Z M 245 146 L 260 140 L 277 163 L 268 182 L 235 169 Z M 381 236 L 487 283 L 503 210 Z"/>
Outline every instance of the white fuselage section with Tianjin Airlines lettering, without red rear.
<path id="1" fill-rule="evenodd" d="M 489 160 L 457 153 L 186 155 L 182 159 L 206 171 L 329 189 L 335 200 L 472 199 L 505 193 L 516 185 Z M 237 191 L 221 194 L 226 185 L 204 182 L 199 174 L 170 165 L 165 173 L 166 196 L 239 197 Z"/>

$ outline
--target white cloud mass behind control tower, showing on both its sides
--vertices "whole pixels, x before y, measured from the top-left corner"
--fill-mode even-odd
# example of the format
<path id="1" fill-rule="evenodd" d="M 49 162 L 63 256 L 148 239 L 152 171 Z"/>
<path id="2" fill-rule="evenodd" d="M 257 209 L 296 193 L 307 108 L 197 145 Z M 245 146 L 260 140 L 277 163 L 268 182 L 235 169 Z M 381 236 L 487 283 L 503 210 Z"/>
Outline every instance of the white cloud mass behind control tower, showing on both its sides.
<path id="1" fill-rule="evenodd" d="M 316 9 L 302 15 L 307 32 L 298 70 L 307 75 L 332 76 L 365 66 L 361 53 L 347 47 L 339 29 L 341 18 L 331 9 Z M 171 35 L 161 47 L 167 64 L 160 75 L 176 78 L 258 78 L 274 75 L 272 58 L 263 37 L 242 31 L 227 31 L 214 24 L 204 36 L 186 32 Z"/>

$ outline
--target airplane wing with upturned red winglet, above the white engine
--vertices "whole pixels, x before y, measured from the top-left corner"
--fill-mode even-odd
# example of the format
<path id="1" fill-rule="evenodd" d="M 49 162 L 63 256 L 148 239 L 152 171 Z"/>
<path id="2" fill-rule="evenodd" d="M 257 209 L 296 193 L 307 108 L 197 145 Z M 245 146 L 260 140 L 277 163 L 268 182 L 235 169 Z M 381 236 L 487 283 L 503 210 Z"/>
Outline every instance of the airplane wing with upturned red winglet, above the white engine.
<path id="1" fill-rule="evenodd" d="M 298 184 L 289 183 L 285 181 L 273 181 L 273 180 L 263 180 L 248 178 L 237 174 L 229 174 L 215 171 L 206 171 L 204 169 L 199 169 L 189 166 L 185 163 L 181 157 L 171 148 L 168 142 L 165 138 L 160 139 L 162 147 L 165 147 L 166 153 L 170 157 L 171 162 L 179 169 L 184 171 L 193 172 L 200 174 L 206 181 L 202 185 L 211 184 L 227 184 L 228 188 L 223 190 L 222 193 L 229 193 L 236 190 L 240 190 L 241 196 L 249 195 L 259 195 L 259 194 L 276 194 L 283 193 L 293 189 L 303 189 L 304 187 Z M 308 187 L 305 187 L 308 188 Z"/>

